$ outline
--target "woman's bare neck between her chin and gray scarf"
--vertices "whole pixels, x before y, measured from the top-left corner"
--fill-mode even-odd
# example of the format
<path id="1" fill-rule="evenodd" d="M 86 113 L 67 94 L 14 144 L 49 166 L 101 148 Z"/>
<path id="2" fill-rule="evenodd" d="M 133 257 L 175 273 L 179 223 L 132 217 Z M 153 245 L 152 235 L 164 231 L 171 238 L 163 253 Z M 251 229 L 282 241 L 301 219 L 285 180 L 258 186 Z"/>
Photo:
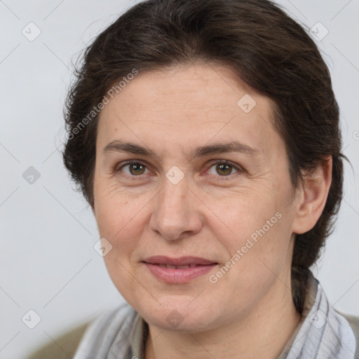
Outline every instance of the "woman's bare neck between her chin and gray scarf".
<path id="1" fill-rule="evenodd" d="M 278 280 L 248 315 L 213 330 L 175 332 L 149 325 L 145 359 L 277 358 L 301 319 L 289 288 Z"/>

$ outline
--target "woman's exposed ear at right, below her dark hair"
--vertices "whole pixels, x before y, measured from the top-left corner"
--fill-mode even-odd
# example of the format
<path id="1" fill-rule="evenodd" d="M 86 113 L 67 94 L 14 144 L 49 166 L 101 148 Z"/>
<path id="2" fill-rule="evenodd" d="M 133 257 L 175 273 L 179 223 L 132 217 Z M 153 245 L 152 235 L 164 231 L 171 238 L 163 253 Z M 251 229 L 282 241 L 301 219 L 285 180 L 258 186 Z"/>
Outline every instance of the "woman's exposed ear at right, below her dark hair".
<path id="1" fill-rule="evenodd" d="M 293 233 L 302 234 L 316 225 L 322 214 L 332 184 L 332 156 L 318 164 L 315 170 L 304 173 L 302 193 L 298 196 Z"/>

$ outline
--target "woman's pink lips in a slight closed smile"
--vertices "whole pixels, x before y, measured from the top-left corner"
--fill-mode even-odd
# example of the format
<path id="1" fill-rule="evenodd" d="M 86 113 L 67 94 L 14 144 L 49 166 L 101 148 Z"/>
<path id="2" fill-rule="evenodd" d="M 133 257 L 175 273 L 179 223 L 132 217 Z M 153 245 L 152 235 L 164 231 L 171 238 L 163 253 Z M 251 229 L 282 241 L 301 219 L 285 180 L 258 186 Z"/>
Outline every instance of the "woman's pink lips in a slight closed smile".
<path id="1" fill-rule="evenodd" d="M 218 263 L 200 257 L 170 258 L 164 256 L 149 257 L 143 261 L 149 271 L 159 280 L 168 284 L 187 283 L 194 278 L 203 276 L 212 270 Z M 160 264 L 170 266 L 186 266 L 189 268 L 165 268 Z"/>

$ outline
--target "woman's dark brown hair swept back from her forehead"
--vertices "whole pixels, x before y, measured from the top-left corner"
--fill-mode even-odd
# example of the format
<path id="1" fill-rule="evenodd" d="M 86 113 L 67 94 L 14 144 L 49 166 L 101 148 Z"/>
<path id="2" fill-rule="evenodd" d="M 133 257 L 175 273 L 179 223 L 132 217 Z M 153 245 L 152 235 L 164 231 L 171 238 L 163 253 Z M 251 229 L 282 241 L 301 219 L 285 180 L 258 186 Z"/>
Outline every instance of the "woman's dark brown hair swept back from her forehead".
<path id="1" fill-rule="evenodd" d="M 294 188 L 303 170 L 332 156 L 332 185 L 323 214 L 294 244 L 292 297 L 302 314 L 309 267 L 339 210 L 344 156 L 327 65 L 311 37 L 271 1 L 148 0 L 121 15 L 86 48 L 75 72 L 65 107 L 65 166 L 93 206 L 98 116 L 88 114 L 133 69 L 150 72 L 195 61 L 225 65 L 271 98 Z M 80 128 L 81 121 L 86 126 Z"/>

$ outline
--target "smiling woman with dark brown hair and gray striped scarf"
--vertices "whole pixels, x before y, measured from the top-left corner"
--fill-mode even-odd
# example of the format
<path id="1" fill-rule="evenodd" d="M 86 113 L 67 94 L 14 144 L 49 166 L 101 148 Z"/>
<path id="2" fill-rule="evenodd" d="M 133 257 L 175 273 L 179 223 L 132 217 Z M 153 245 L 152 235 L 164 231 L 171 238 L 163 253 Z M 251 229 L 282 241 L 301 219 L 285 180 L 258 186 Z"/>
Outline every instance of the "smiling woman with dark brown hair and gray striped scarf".
<path id="1" fill-rule="evenodd" d="M 342 196 L 318 48 L 266 0 L 149 0 L 95 39 L 64 161 L 128 304 L 76 359 L 355 358 L 310 271 Z"/>

